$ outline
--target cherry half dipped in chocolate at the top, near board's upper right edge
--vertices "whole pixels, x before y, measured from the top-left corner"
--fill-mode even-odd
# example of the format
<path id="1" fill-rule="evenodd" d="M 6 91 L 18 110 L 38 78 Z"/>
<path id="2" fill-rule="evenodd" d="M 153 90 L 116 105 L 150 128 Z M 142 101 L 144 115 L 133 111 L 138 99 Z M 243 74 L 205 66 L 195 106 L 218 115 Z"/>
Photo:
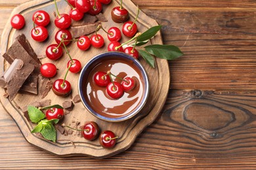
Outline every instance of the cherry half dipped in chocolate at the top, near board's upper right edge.
<path id="1" fill-rule="evenodd" d="M 127 9 L 114 7 L 114 9 L 111 10 L 111 17 L 116 23 L 125 22 L 129 18 L 129 12 Z"/>

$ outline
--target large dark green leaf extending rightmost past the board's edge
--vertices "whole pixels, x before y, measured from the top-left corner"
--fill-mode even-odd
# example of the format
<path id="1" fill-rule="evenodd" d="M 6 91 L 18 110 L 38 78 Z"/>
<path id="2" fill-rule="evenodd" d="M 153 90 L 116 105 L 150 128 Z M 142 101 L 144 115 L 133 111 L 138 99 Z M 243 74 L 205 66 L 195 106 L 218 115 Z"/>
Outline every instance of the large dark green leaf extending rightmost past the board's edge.
<path id="1" fill-rule="evenodd" d="M 183 55 L 177 46 L 153 44 L 144 47 L 147 52 L 162 59 L 176 59 Z"/>

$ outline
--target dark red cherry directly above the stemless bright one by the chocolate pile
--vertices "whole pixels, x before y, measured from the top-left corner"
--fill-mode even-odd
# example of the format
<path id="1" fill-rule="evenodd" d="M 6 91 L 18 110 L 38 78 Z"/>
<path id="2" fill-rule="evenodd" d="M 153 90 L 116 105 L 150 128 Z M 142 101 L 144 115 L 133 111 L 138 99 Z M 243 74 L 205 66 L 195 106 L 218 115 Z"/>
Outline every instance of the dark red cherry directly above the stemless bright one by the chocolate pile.
<path id="1" fill-rule="evenodd" d="M 47 46 L 45 54 L 47 58 L 56 60 L 62 56 L 63 50 L 58 44 L 51 44 Z"/>

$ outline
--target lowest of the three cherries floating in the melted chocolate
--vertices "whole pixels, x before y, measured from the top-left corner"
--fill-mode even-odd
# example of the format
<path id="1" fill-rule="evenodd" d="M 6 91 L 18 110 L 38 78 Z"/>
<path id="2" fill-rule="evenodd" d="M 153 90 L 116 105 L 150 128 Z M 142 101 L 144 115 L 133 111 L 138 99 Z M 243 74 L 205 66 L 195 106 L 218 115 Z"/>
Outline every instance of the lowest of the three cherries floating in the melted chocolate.
<path id="1" fill-rule="evenodd" d="M 119 82 L 110 82 L 106 87 L 106 92 L 113 99 L 119 99 L 123 96 L 123 88 Z"/>

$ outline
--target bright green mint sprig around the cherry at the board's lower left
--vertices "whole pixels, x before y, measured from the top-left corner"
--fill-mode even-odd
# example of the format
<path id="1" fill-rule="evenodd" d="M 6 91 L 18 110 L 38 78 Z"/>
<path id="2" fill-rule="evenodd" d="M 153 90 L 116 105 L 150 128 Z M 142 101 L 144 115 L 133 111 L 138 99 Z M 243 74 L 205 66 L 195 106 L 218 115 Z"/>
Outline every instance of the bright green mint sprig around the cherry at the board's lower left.
<path id="1" fill-rule="evenodd" d="M 51 109 L 51 108 L 62 108 L 60 105 L 53 105 L 49 107 L 43 107 L 41 109 Z M 37 124 L 31 133 L 41 133 L 43 137 L 49 141 L 56 142 L 56 129 L 53 124 L 58 123 L 58 119 L 47 120 L 45 119 L 45 114 L 41 109 L 33 106 L 28 106 L 28 116 L 31 122 Z"/>

